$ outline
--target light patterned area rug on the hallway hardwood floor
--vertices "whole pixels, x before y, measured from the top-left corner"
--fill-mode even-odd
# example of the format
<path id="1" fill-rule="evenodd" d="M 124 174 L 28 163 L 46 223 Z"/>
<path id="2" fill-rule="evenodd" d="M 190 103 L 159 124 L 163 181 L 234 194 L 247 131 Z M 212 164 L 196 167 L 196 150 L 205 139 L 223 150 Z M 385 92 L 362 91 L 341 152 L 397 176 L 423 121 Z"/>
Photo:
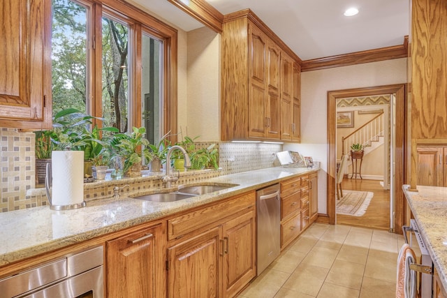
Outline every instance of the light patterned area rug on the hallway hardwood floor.
<path id="1" fill-rule="evenodd" d="M 337 201 L 337 214 L 362 216 L 371 202 L 374 193 L 370 191 L 345 191 Z"/>

